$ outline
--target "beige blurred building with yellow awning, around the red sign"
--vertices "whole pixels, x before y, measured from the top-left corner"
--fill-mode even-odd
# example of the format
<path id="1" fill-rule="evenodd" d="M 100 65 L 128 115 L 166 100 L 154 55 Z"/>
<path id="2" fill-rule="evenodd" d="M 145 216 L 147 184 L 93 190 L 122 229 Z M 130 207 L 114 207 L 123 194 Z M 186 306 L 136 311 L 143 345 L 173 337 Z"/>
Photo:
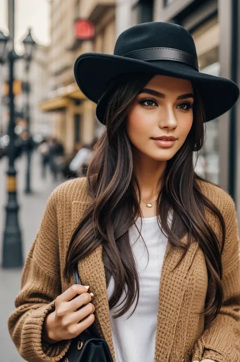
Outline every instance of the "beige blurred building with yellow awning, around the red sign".
<path id="1" fill-rule="evenodd" d="M 78 19 L 92 22 L 93 40 L 78 39 Z M 67 154 L 74 151 L 78 142 L 91 143 L 102 128 L 95 116 L 95 104 L 86 99 L 75 84 L 73 63 L 84 52 L 111 53 L 114 43 L 114 0 L 51 2 L 50 91 L 41 103 L 41 110 L 52 113 L 52 133 L 61 139 Z"/>

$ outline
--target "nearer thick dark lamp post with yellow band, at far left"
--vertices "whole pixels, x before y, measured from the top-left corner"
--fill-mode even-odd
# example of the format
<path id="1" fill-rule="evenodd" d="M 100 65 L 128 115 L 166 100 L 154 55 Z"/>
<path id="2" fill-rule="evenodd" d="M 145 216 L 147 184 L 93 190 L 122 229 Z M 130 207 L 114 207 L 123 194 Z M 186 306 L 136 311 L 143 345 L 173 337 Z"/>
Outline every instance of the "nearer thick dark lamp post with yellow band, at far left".
<path id="1" fill-rule="evenodd" d="M 15 30 L 15 0 L 8 1 L 9 37 L 0 32 L 0 63 L 8 62 L 9 65 L 9 146 L 7 149 L 8 171 L 7 188 L 8 202 L 6 205 L 6 222 L 3 235 L 2 267 L 20 268 L 23 266 L 22 238 L 18 223 L 19 205 L 17 200 L 17 172 L 15 169 L 15 104 L 14 104 L 14 63 L 15 60 L 24 58 L 14 50 Z"/>

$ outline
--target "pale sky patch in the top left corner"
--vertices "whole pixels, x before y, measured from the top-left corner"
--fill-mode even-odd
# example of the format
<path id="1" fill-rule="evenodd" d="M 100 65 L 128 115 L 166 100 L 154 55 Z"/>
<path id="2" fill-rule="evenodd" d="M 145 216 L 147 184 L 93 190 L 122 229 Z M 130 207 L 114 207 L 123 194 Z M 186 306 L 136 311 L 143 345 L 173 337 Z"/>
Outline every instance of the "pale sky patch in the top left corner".
<path id="1" fill-rule="evenodd" d="M 29 27 L 35 42 L 50 43 L 49 0 L 15 0 L 15 47 L 20 53 Z M 0 30 L 8 34 L 8 0 L 0 0 Z"/>

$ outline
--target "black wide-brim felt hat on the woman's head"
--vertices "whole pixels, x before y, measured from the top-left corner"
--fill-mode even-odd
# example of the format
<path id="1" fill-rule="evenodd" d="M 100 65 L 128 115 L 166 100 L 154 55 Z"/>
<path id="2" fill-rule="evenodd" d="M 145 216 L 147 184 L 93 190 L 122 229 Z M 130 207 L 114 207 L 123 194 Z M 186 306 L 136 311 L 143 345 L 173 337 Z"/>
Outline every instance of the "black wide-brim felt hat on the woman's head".
<path id="1" fill-rule="evenodd" d="M 74 64 L 76 83 L 87 98 L 97 103 L 96 115 L 103 124 L 109 83 L 116 77 L 134 73 L 191 81 L 201 95 L 206 122 L 228 111 L 239 96 L 234 82 L 199 72 L 191 34 L 172 23 L 133 26 L 119 35 L 113 55 L 84 53 Z"/>

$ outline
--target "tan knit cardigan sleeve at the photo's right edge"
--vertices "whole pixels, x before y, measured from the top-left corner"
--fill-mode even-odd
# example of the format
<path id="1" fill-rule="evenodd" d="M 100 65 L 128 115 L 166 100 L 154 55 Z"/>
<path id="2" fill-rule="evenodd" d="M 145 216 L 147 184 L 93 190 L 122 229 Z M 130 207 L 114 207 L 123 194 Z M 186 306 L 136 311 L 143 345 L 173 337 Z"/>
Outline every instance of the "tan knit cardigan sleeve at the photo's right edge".
<path id="1" fill-rule="evenodd" d="M 192 360 L 209 358 L 216 362 L 240 362 L 239 235 L 234 202 L 230 196 L 224 201 L 223 303 L 217 317 L 196 341 Z"/>

